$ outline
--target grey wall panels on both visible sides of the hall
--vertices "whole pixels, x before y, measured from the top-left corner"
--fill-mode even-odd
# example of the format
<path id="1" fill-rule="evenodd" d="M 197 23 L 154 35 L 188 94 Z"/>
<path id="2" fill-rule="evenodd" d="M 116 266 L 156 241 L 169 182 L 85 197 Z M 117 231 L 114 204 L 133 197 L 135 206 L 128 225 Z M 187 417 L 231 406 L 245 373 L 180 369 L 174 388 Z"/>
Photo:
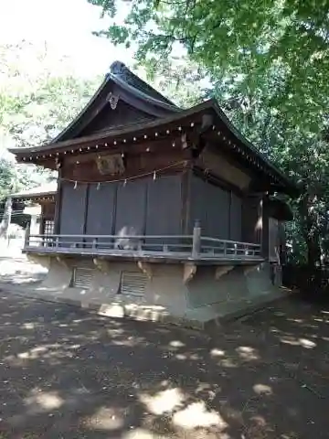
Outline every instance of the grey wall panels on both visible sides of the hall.
<path id="1" fill-rule="evenodd" d="M 120 183 L 62 185 L 61 234 L 182 234 L 182 175 L 145 177 Z M 234 192 L 192 176 L 188 229 L 196 219 L 202 233 L 242 241 L 242 200 Z M 251 239 L 249 235 L 249 240 Z"/>

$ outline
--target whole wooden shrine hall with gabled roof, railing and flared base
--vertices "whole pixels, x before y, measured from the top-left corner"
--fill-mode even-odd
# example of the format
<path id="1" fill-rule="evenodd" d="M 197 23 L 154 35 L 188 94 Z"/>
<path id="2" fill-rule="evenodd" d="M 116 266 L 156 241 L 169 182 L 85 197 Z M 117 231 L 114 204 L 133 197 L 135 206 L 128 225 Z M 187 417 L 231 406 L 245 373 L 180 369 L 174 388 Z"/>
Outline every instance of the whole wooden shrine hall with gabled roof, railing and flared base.
<path id="1" fill-rule="evenodd" d="M 11 152 L 58 170 L 54 233 L 24 249 L 45 294 L 192 326 L 280 294 L 296 187 L 214 100 L 182 110 L 116 61 L 58 137 Z"/>

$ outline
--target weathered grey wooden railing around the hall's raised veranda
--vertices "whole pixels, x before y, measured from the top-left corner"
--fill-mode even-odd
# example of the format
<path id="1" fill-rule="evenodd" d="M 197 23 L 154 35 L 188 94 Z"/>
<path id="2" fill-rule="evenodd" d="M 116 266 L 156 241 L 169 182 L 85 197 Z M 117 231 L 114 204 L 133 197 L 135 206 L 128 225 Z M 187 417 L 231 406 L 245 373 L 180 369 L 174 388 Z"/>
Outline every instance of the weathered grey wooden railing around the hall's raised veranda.
<path id="1" fill-rule="evenodd" d="M 260 245 L 201 235 L 29 235 L 27 252 L 148 256 L 174 259 L 261 259 Z"/>

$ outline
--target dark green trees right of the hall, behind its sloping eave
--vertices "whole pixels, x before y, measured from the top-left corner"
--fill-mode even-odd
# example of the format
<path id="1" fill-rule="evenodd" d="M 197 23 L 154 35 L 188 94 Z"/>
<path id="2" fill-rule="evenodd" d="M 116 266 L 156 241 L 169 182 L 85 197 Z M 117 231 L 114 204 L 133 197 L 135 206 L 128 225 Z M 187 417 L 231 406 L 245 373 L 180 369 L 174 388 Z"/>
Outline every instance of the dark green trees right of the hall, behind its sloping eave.
<path id="1" fill-rule="evenodd" d="M 292 262 L 319 267 L 329 257 L 329 145 L 324 135 L 273 112 L 264 104 L 268 95 L 271 83 L 261 87 L 251 103 L 243 96 L 221 102 L 244 134 L 300 186 L 300 196 L 291 200 L 295 221 L 287 224 L 289 256 Z"/>

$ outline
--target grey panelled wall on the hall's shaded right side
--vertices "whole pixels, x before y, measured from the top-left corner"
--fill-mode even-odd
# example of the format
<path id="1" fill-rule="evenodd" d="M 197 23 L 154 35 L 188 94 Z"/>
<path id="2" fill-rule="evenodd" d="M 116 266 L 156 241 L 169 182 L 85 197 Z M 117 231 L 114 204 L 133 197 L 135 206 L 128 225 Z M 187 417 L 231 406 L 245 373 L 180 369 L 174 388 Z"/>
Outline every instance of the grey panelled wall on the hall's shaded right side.
<path id="1" fill-rule="evenodd" d="M 238 195 L 192 176 L 189 197 L 190 232 L 196 219 L 199 219 L 204 235 L 241 241 L 242 200 Z"/>

